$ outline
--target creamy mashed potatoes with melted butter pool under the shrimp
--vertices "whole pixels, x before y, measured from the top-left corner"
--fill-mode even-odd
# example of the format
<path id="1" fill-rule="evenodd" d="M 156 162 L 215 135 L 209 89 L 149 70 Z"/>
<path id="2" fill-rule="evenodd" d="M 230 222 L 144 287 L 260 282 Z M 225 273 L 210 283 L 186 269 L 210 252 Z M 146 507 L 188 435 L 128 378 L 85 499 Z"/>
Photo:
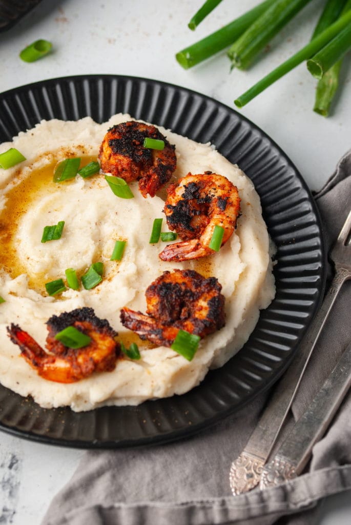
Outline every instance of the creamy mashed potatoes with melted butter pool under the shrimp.
<path id="1" fill-rule="evenodd" d="M 133 199 L 116 197 L 101 175 L 52 182 L 59 160 L 67 156 L 80 156 L 86 163 L 96 160 L 108 128 L 126 120 L 130 117 L 118 114 L 101 125 L 90 118 L 43 121 L 0 148 L 17 148 L 27 159 L 12 169 L 0 170 L 0 296 L 5 300 L 0 304 L 0 382 L 23 396 L 30 394 L 43 407 L 69 405 L 82 411 L 183 394 L 210 367 L 221 366 L 241 348 L 259 310 L 274 297 L 269 237 L 259 197 L 246 175 L 210 145 L 160 128 L 176 145 L 174 178 L 209 170 L 225 175 L 239 190 L 241 217 L 235 233 L 218 254 L 199 260 L 175 264 L 158 258 L 165 244 L 151 245 L 148 239 L 154 218 L 163 216 L 163 201 L 158 196 L 142 197 L 137 182 L 130 185 Z M 60 220 L 65 220 L 62 237 L 42 244 L 44 226 Z M 163 229 L 168 229 L 165 220 Z M 110 261 L 118 239 L 127 241 L 123 259 Z M 65 279 L 67 268 L 82 273 L 98 260 L 104 262 L 99 286 L 67 289 L 56 298 L 47 296 L 46 282 Z M 217 277 L 226 297 L 225 327 L 204 338 L 190 362 L 170 348 L 152 348 L 120 323 L 124 306 L 145 312 L 145 289 L 164 270 L 173 268 Z M 94 373 L 71 384 L 42 379 L 10 342 L 7 325 L 19 324 L 44 348 L 48 318 L 83 306 L 108 319 L 126 345 L 137 342 L 141 360 L 118 360 L 113 372 Z"/>

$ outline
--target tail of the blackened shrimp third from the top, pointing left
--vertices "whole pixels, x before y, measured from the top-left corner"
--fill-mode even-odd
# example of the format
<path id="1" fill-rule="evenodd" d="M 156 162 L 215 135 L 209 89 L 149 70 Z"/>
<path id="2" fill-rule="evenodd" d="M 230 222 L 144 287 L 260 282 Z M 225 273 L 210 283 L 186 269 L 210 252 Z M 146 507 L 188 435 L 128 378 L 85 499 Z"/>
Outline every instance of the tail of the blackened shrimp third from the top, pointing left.
<path id="1" fill-rule="evenodd" d="M 140 339 L 147 339 L 158 346 L 171 346 L 179 331 L 176 327 L 164 326 L 153 317 L 126 307 L 121 309 L 120 318 L 125 328 L 137 333 Z"/>

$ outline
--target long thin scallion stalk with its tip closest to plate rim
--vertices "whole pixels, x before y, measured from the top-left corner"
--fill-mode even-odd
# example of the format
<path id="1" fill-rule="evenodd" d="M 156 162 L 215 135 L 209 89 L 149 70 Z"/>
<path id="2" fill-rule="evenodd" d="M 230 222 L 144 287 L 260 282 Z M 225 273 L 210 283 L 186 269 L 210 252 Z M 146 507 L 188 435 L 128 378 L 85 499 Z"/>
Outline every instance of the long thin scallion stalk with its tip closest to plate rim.
<path id="1" fill-rule="evenodd" d="M 338 18 L 334 24 L 327 27 L 320 35 L 316 36 L 309 44 L 304 46 L 300 51 L 297 51 L 295 55 L 290 57 L 288 60 L 283 62 L 280 66 L 273 69 L 267 76 L 262 78 L 254 86 L 252 86 L 248 91 L 243 93 L 239 98 L 237 98 L 234 103 L 238 108 L 245 106 L 250 100 L 257 97 L 262 91 L 271 86 L 276 80 L 279 80 L 281 77 L 289 73 L 296 66 L 301 64 L 304 60 L 307 60 L 317 53 L 322 47 L 324 47 L 329 40 L 334 38 L 335 35 L 339 33 L 347 24 L 351 22 L 351 12 L 346 13 L 342 17 Z"/>

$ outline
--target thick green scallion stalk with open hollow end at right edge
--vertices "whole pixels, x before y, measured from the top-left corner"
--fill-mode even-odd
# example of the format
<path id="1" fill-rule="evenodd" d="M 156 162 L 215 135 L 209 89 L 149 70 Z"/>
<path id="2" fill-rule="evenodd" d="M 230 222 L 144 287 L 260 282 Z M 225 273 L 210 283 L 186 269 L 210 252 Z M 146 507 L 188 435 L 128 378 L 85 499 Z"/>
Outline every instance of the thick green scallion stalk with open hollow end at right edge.
<path id="1" fill-rule="evenodd" d="M 320 80 L 351 49 L 351 24 L 344 27 L 316 55 L 307 60 L 307 69 Z"/>

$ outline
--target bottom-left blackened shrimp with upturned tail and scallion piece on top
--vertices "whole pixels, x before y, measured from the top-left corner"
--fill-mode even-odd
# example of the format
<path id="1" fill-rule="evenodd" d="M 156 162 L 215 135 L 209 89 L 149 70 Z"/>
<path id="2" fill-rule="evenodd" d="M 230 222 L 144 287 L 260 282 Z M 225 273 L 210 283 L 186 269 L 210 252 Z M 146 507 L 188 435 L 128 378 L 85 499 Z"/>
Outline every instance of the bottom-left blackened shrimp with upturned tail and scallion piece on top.
<path id="1" fill-rule="evenodd" d="M 45 352 L 41 346 L 17 324 L 7 327 L 11 341 L 18 344 L 21 355 L 41 377 L 58 383 L 73 383 L 93 372 L 111 372 L 120 353 L 115 341 L 117 333 L 106 319 L 95 316 L 92 308 L 77 308 L 52 316 L 47 321 L 48 336 Z M 61 330 L 73 326 L 89 335 L 90 343 L 82 348 L 72 349 L 55 339 Z"/>

